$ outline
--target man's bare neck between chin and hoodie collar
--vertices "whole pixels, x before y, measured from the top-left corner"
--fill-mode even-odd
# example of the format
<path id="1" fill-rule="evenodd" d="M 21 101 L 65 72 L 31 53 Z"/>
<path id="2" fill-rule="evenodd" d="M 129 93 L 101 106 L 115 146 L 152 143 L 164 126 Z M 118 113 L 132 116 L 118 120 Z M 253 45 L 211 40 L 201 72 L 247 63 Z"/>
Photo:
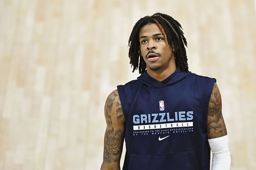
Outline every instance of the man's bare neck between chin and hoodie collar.
<path id="1" fill-rule="evenodd" d="M 164 69 L 164 70 L 154 71 L 152 69 L 147 68 L 146 72 L 148 75 L 150 75 L 150 77 L 161 82 L 165 80 L 167 77 L 169 77 L 170 75 L 172 75 L 175 70 L 176 70 L 176 65 L 174 64 L 172 67 L 168 67 L 167 69 Z"/>

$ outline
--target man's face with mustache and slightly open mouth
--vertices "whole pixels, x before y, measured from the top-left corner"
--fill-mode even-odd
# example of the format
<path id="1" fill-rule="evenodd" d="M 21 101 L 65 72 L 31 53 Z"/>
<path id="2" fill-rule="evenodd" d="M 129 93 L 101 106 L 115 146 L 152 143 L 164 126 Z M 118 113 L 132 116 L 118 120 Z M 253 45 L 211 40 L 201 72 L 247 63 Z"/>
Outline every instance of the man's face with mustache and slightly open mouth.
<path id="1" fill-rule="evenodd" d="M 173 48 L 164 39 L 164 35 L 155 23 L 141 28 L 139 41 L 140 55 L 148 71 L 163 71 L 170 67 L 176 69 Z"/>

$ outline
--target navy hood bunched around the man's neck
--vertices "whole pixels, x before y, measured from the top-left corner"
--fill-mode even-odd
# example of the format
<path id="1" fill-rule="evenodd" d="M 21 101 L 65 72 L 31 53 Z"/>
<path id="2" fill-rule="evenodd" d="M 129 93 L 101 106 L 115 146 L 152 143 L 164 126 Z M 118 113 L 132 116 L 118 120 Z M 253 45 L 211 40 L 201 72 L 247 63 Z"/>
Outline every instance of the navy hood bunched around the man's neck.
<path id="1" fill-rule="evenodd" d="M 144 71 L 141 74 L 141 76 L 138 77 L 137 79 L 141 83 L 147 85 L 148 87 L 161 88 L 161 87 L 170 86 L 175 83 L 178 83 L 181 80 L 183 80 L 185 77 L 187 77 L 189 74 L 190 74 L 190 71 L 182 71 L 178 68 L 175 70 L 175 72 L 172 75 L 167 77 L 162 82 L 159 82 L 159 81 L 153 79 L 152 77 L 150 77 L 150 75 L 148 75 L 147 72 Z"/>

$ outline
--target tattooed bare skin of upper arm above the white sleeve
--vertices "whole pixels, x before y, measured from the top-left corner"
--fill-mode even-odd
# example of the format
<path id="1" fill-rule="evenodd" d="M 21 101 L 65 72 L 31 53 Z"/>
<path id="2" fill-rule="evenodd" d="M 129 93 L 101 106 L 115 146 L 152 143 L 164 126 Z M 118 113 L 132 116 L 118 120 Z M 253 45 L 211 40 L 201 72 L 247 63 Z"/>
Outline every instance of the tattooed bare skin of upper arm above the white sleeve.
<path id="1" fill-rule="evenodd" d="M 222 116 L 221 94 L 217 84 L 212 89 L 207 116 L 208 139 L 221 137 L 227 134 L 225 122 Z"/>

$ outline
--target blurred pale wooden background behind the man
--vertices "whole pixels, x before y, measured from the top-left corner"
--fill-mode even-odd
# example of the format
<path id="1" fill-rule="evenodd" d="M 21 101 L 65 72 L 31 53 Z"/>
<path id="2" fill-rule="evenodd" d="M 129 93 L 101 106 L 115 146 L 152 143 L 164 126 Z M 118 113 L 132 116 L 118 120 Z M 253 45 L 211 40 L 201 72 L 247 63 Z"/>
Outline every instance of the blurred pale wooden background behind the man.
<path id="1" fill-rule="evenodd" d="M 256 169 L 253 0 L 0 0 L 0 169 L 99 169 L 105 99 L 138 76 L 127 41 L 155 12 L 181 23 L 189 69 L 217 78 L 231 169 Z"/>

